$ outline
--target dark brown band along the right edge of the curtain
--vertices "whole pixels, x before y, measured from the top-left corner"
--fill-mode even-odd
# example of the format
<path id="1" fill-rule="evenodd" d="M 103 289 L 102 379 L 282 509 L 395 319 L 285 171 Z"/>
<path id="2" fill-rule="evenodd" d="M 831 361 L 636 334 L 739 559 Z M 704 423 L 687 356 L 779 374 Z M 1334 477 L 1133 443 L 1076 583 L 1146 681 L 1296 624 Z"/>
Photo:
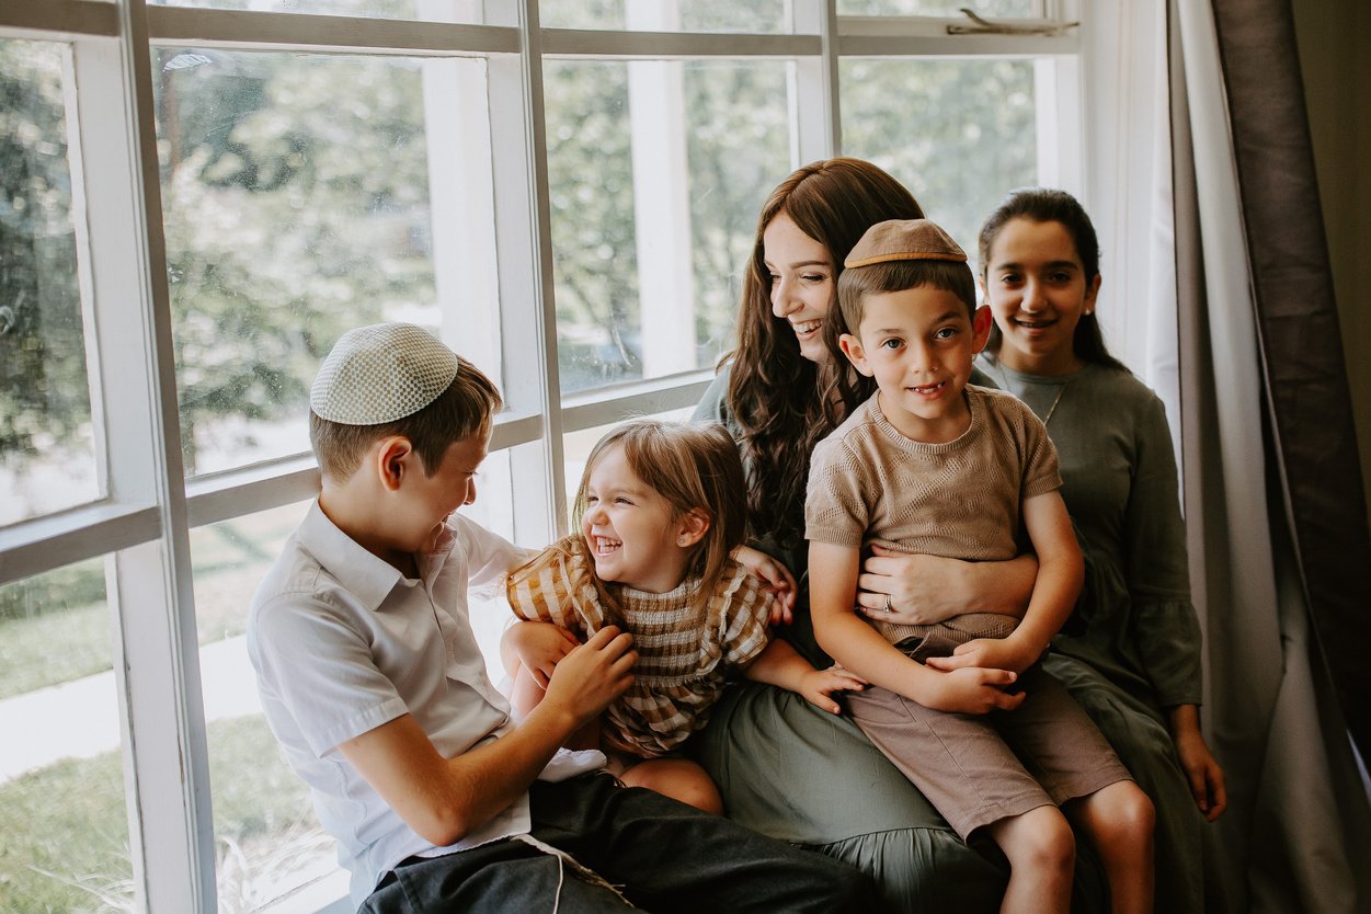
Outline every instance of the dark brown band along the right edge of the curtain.
<path id="1" fill-rule="evenodd" d="M 1318 641 L 1371 756 L 1371 529 L 1290 0 L 1213 0 L 1260 360 Z"/>

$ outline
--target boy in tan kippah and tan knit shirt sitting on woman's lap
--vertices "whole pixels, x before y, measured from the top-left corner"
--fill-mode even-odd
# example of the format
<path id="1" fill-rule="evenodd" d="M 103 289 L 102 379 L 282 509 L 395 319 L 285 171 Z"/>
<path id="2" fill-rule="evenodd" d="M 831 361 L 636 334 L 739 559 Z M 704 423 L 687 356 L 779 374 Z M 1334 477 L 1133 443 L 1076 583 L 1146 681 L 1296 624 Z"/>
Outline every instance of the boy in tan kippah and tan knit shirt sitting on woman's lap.
<path id="1" fill-rule="evenodd" d="M 1038 666 L 1080 589 L 1080 551 L 1043 423 L 968 384 L 991 317 L 967 255 L 932 222 L 891 221 L 843 266 L 839 347 L 877 391 L 814 449 L 805 521 L 814 634 L 872 684 L 849 711 L 958 835 L 984 828 L 1004 850 L 1002 911 L 1069 909 L 1068 818 L 1100 852 L 1113 910 L 1150 911 L 1150 800 Z M 1039 562 L 1021 621 L 858 615 L 864 548 L 1002 560 L 1020 529 Z"/>

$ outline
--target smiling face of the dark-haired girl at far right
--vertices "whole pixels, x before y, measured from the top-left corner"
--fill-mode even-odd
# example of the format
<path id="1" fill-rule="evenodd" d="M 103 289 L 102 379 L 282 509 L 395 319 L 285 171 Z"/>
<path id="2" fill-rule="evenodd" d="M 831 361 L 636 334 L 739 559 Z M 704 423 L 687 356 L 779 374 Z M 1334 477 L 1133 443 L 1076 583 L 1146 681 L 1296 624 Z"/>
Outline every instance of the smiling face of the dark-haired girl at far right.
<path id="1" fill-rule="evenodd" d="M 1010 219 L 990 245 L 986 295 L 1004 334 L 998 358 L 1016 371 L 1069 374 L 1076 323 L 1095 308 L 1100 275 L 1086 280 L 1076 244 L 1060 222 Z"/>

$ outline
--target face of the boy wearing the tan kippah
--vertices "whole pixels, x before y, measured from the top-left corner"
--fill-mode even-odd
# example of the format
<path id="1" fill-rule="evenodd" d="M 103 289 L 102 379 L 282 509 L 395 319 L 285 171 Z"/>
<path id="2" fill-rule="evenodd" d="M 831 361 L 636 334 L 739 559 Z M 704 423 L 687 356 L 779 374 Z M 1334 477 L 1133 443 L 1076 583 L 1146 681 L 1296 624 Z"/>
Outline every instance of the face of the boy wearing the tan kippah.
<path id="1" fill-rule="evenodd" d="M 839 345 L 858 371 L 876 378 L 886 419 L 914 441 L 935 444 L 971 423 L 961 392 L 988 334 L 984 308 L 972 322 L 954 292 L 917 286 L 868 293 L 857 334 L 845 333 Z"/>

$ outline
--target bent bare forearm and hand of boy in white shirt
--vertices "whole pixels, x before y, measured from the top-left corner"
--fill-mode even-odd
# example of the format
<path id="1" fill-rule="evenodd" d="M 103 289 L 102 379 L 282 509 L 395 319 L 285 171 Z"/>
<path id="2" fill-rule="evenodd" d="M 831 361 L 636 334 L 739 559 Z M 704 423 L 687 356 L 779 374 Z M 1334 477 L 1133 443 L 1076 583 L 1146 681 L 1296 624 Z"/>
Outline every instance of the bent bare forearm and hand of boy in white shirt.
<path id="1" fill-rule="evenodd" d="M 498 740 L 443 758 L 406 714 L 339 751 L 406 825 L 446 847 L 518 799 L 558 747 L 624 693 L 636 662 L 632 636 L 606 626 L 557 665 L 542 703 Z"/>

